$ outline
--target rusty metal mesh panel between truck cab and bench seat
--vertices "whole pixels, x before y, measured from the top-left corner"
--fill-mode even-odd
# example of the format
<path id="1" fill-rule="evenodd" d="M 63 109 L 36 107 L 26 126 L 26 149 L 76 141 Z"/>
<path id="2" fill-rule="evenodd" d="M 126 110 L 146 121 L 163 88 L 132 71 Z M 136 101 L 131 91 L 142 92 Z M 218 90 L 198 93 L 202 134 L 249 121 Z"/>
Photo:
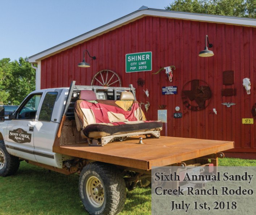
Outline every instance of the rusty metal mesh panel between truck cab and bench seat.
<path id="1" fill-rule="evenodd" d="M 75 120 L 66 120 L 59 139 L 60 145 L 75 144 L 78 142 L 87 142 L 87 140 L 81 138 L 80 132 L 76 129 Z"/>

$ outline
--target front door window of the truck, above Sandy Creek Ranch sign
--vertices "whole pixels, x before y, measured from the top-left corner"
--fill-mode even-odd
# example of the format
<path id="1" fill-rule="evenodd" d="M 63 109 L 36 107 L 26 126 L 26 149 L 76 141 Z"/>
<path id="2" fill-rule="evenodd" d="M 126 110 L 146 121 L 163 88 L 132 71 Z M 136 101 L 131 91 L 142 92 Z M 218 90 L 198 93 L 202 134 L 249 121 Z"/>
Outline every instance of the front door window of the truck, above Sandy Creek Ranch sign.
<path id="1" fill-rule="evenodd" d="M 18 113 L 19 119 L 35 119 L 42 94 L 35 94 L 23 105 Z"/>

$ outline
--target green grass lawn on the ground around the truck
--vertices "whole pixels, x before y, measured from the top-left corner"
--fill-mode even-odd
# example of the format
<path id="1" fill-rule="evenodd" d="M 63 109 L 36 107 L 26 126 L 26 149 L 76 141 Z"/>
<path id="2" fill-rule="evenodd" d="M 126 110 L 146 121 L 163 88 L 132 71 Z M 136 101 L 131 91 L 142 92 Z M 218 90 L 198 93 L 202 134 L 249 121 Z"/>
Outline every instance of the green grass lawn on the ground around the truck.
<path id="1" fill-rule="evenodd" d="M 219 159 L 222 166 L 256 166 L 256 160 Z M 85 214 L 78 192 L 79 176 L 65 176 L 21 162 L 14 176 L 0 177 L 0 215 Z M 150 215 L 151 189 L 127 192 L 122 215 Z"/>

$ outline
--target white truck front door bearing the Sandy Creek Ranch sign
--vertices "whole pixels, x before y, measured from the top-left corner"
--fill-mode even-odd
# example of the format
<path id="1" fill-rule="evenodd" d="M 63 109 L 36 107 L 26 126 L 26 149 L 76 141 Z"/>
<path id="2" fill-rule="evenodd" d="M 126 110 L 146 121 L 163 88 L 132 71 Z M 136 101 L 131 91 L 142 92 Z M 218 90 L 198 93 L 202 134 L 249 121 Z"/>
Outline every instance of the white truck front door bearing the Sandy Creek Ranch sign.
<path id="1" fill-rule="evenodd" d="M 42 93 L 31 94 L 16 111 L 16 118 L 8 123 L 5 144 L 17 157 L 36 161 L 34 155 L 34 126 Z"/>

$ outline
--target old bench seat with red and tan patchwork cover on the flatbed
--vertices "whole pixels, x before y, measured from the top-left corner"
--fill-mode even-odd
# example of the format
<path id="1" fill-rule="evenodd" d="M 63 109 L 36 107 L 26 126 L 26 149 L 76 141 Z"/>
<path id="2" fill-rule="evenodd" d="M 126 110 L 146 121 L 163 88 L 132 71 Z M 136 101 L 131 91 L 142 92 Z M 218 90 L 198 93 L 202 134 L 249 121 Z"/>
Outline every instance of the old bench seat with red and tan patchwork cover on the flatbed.
<path id="1" fill-rule="evenodd" d="M 120 100 L 97 100 L 92 90 L 81 90 L 75 103 L 77 130 L 91 145 L 103 146 L 114 138 L 140 134 L 160 137 L 161 121 L 146 121 L 133 93 L 121 92 Z"/>

